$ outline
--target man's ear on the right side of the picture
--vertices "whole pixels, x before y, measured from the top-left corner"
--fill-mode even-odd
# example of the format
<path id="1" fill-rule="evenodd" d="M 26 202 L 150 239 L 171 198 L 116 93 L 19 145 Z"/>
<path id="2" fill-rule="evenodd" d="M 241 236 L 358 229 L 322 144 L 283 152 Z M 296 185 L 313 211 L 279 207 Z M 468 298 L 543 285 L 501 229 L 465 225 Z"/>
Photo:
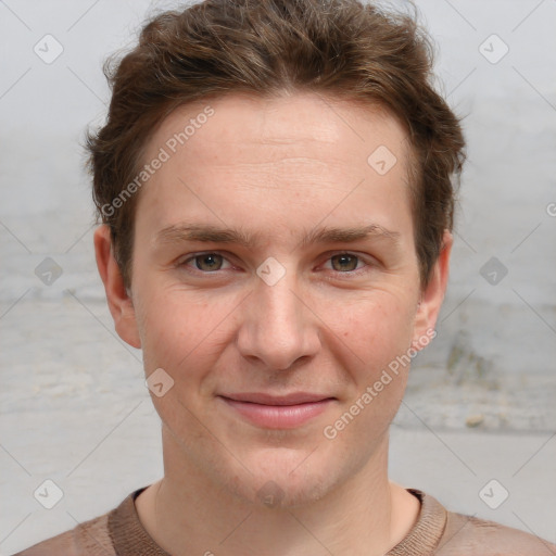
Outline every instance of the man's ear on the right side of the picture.
<path id="1" fill-rule="evenodd" d="M 421 291 L 421 298 L 415 315 L 413 346 L 420 350 L 434 338 L 432 331 L 437 325 L 437 318 L 440 313 L 440 307 L 444 300 L 446 291 L 447 278 L 450 273 L 450 254 L 452 252 L 452 244 L 454 238 L 448 230 L 444 231 L 442 238 L 442 247 L 440 255 L 434 264 L 430 281 L 427 287 Z M 422 338 L 427 337 L 427 343 L 422 342 Z M 419 342 L 419 339 L 421 341 Z"/>

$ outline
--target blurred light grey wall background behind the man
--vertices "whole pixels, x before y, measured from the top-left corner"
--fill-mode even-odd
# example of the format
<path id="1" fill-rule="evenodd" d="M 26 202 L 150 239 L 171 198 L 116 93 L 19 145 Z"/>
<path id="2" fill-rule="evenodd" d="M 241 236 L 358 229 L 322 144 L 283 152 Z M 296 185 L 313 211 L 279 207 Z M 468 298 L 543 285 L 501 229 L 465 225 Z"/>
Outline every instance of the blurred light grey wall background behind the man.
<path id="1" fill-rule="evenodd" d="M 140 353 L 115 336 L 94 266 L 79 142 L 104 117 L 106 54 L 174 5 L 0 1 L 0 554 L 162 475 Z M 469 161 L 439 337 L 392 427 L 391 475 L 556 542 L 556 1 L 419 8 Z M 47 34 L 63 47 L 51 64 L 34 52 Z M 46 257 L 62 269 L 50 286 L 35 274 Z M 502 266 L 481 274 L 491 257 L 502 280 Z M 64 492 L 50 510 L 33 495 L 47 479 Z M 509 492 L 497 509 L 479 496 L 491 479 Z"/>

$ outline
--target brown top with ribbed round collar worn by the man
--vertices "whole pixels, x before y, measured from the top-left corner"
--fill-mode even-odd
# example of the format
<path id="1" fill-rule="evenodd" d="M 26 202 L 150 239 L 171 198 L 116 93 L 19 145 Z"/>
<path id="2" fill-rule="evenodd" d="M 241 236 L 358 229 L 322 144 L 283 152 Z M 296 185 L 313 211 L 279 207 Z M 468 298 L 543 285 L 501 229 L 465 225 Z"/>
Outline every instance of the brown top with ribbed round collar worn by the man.
<path id="1" fill-rule="evenodd" d="M 14 556 L 169 556 L 144 530 L 129 494 L 108 514 L 42 541 Z M 407 536 L 386 556 L 556 556 L 556 544 L 462 514 L 447 511 L 432 496 L 407 489 L 421 504 Z"/>

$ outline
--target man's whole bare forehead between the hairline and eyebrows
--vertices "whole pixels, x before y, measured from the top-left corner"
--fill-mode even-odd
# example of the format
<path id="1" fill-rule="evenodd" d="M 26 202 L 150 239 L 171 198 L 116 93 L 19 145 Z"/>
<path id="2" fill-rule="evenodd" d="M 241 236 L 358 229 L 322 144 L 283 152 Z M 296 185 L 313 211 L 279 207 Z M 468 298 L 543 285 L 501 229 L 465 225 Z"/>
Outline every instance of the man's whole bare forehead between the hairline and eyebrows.
<path id="1" fill-rule="evenodd" d="M 159 228 L 185 213 L 214 224 L 255 223 L 253 206 L 261 224 L 274 218 L 290 228 L 287 213 L 300 217 L 293 204 L 304 205 L 305 225 L 334 205 L 354 214 L 363 200 L 381 213 L 388 203 L 408 212 L 407 136 L 394 117 L 370 105 L 316 93 L 228 94 L 166 117 L 143 162 L 162 152 L 165 162 L 138 206 L 148 213 L 140 217 Z"/>

